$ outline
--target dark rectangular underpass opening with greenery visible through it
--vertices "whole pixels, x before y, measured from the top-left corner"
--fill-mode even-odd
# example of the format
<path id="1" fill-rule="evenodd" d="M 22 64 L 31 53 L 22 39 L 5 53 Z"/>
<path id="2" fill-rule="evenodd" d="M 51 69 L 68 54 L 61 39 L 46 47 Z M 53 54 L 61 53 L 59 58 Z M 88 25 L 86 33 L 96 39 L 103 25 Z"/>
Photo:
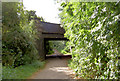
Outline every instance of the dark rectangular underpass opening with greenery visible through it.
<path id="1" fill-rule="evenodd" d="M 66 38 L 46 38 L 44 39 L 45 59 L 48 58 L 64 58 L 71 57 L 70 54 L 65 54 Z"/>

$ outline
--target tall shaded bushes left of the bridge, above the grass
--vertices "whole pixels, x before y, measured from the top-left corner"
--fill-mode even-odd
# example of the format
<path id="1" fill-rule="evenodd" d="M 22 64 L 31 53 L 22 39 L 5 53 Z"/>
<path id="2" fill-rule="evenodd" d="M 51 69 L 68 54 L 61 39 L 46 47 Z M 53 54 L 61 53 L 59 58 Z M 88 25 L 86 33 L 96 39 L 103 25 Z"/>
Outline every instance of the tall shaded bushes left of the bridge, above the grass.
<path id="1" fill-rule="evenodd" d="M 3 65 L 16 67 L 38 60 L 35 11 L 24 10 L 22 3 L 3 2 L 2 15 Z"/>

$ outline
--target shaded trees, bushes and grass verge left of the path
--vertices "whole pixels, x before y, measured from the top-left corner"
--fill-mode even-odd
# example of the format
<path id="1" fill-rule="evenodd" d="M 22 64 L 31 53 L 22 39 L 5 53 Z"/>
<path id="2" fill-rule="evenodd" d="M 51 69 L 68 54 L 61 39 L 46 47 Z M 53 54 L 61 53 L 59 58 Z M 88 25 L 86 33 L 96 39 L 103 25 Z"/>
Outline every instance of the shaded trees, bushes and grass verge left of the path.
<path id="1" fill-rule="evenodd" d="M 36 41 L 38 31 L 35 11 L 24 10 L 23 3 L 2 3 L 2 78 L 22 79 L 44 65 Z"/>

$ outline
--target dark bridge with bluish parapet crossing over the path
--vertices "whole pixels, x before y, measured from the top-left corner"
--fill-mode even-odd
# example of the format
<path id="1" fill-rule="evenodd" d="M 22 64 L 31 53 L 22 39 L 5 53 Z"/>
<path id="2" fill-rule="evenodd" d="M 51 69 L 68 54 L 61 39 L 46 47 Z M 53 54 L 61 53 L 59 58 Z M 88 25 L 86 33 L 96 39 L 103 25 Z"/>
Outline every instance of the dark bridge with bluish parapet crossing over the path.
<path id="1" fill-rule="evenodd" d="M 46 41 L 68 40 L 64 37 L 65 30 L 60 26 L 60 24 L 42 22 L 37 20 L 36 27 L 39 31 L 39 39 L 36 42 L 41 60 L 45 60 L 46 58 Z"/>

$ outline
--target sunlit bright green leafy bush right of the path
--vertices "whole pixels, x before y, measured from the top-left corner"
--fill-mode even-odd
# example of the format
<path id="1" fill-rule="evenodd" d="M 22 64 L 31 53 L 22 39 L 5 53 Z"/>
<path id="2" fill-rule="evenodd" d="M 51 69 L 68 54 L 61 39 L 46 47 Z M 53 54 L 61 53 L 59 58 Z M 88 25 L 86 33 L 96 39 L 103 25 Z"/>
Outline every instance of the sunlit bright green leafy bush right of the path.
<path id="1" fill-rule="evenodd" d="M 61 7 L 76 76 L 119 79 L 120 2 L 63 2 Z"/>

